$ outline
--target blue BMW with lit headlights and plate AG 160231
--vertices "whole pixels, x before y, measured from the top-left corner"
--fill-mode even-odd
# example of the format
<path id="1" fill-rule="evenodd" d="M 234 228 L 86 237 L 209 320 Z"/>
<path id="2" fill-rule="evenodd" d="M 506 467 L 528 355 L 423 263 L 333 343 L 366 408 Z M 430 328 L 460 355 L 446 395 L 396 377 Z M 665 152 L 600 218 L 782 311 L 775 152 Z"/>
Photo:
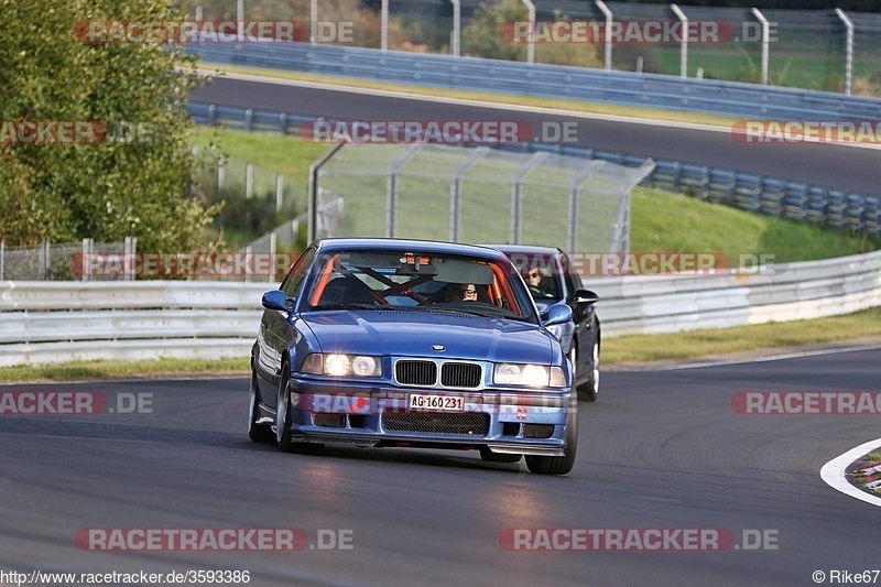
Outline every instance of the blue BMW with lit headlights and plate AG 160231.
<path id="1" fill-rule="evenodd" d="M 325 444 L 475 449 L 564 475 L 577 398 L 539 312 L 502 252 L 399 239 L 311 244 L 263 295 L 251 352 L 249 434 L 285 452 Z"/>

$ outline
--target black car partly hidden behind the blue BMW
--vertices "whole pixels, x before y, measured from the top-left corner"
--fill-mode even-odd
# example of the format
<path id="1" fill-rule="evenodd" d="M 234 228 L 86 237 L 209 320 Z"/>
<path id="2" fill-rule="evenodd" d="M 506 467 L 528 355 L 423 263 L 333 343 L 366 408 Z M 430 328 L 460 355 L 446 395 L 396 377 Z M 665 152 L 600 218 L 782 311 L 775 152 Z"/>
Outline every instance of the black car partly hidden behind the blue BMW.
<path id="1" fill-rule="evenodd" d="M 599 296 L 583 289 L 572 259 L 554 247 L 490 244 L 505 253 L 520 271 L 540 312 L 565 302 L 573 320 L 550 326 L 569 357 L 578 396 L 596 401 L 599 392 L 600 323 L 594 304 Z"/>

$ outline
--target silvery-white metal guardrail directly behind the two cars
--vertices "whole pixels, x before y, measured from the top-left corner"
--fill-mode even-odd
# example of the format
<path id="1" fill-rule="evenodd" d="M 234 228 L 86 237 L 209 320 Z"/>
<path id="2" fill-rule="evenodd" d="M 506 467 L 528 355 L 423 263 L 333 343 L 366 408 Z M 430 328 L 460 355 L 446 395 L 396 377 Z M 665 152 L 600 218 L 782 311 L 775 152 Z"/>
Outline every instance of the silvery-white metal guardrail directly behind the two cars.
<path id="1" fill-rule="evenodd" d="M 600 278 L 585 285 L 601 296 L 607 337 L 816 318 L 881 305 L 881 251 L 748 273 Z M 0 282 L 0 367 L 246 357 L 257 336 L 260 295 L 268 287 Z"/>

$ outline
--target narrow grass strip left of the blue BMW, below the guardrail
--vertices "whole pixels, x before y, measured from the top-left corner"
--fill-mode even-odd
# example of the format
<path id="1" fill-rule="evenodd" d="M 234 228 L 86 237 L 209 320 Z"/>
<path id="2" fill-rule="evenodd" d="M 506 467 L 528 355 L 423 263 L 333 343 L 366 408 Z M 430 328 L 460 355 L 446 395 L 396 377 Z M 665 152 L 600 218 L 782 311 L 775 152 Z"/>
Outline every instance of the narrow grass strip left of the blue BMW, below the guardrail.
<path id="1" fill-rule="evenodd" d="M 4 367 L 0 369 L 0 382 L 222 377 L 247 374 L 248 368 L 248 358 L 81 361 L 37 367 Z"/>

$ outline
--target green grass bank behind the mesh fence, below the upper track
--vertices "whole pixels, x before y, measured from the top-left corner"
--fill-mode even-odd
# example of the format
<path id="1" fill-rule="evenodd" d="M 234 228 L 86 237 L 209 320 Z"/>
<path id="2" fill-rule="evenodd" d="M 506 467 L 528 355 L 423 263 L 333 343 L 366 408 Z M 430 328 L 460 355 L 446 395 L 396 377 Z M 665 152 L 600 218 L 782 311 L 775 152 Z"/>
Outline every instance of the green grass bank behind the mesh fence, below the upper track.
<path id="1" fill-rule="evenodd" d="M 199 144 L 207 144 L 210 137 L 210 129 L 199 129 L 197 138 L 203 141 Z M 327 149 L 326 144 L 306 143 L 298 137 L 237 130 L 224 130 L 219 135 L 219 145 L 232 156 L 246 161 L 249 157 L 255 157 L 250 159 L 250 161 L 272 172 L 284 173 L 295 181 L 302 182 L 304 198 L 308 166 Z M 347 160 L 348 164 L 357 160 L 360 165 L 366 166 L 368 170 L 371 167 L 380 169 L 400 154 L 396 145 L 355 145 L 355 148 L 350 149 L 351 155 Z M 414 159 L 404 169 L 409 166 L 422 169 L 424 164 L 421 160 Z M 443 164 L 438 163 L 434 166 L 447 169 L 455 164 L 456 161 L 445 161 Z M 481 167 L 476 166 L 471 172 L 480 171 L 496 176 L 512 172 L 511 163 L 508 162 L 488 160 L 481 165 Z M 471 172 L 469 172 L 468 176 L 471 176 Z M 409 177 L 402 177 L 402 188 L 406 187 L 407 182 L 413 181 Z M 323 182 L 324 187 L 331 192 L 340 194 L 372 194 L 373 200 L 379 198 L 384 203 L 384 177 L 361 174 L 327 174 Z M 407 207 L 402 203 L 402 207 L 399 209 L 399 226 L 406 226 L 404 220 L 410 218 L 411 224 L 415 222 L 415 226 L 423 225 L 424 227 L 424 222 L 421 219 L 426 217 L 446 218 L 448 215 L 448 184 L 445 182 L 421 181 L 418 185 L 424 193 L 434 197 L 425 198 L 417 208 Z M 487 218 L 490 217 L 493 217 L 497 224 L 501 222 L 504 226 L 503 233 L 496 235 L 494 240 L 507 240 L 509 213 L 505 206 L 510 203 L 510 188 L 504 188 L 500 192 L 493 184 L 468 182 L 467 180 L 463 183 L 463 186 L 466 202 L 469 197 L 479 196 L 487 203 L 487 207 L 482 213 L 471 209 L 463 210 L 464 240 L 485 242 L 488 239 L 493 240 L 491 238 L 492 233 L 488 233 L 486 229 L 481 230 L 480 228 L 488 224 Z M 566 189 L 563 189 L 556 195 L 559 196 L 562 194 L 565 199 L 568 197 L 566 192 Z M 565 218 L 561 220 L 558 215 L 548 215 L 548 206 L 535 202 L 535 198 L 532 198 L 532 203 L 530 203 L 529 193 L 525 196 L 524 206 L 527 208 L 532 206 L 532 208 L 524 209 L 524 213 L 529 213 L 530 217 L 546 219 L 546 222 L 543 222 L 546 230 L 545 235 L 536 235 L 529 232 L 529 228 L 524 226 L 524 242 L 550 244 L 551 242 L 545 242 L 547 240 L 546 233 L 564 235 L 562 238 L 565 238 Z M 736 259 L 739 254 L 773 254 L 776 262 L 795 262 L 844 257 L 881 248 L 881 241 L 873 237 L 860 237 L 795 220 L 763 216 L 660 189 L 637 187 L 633 191 L 631 204 L 630 249 L 632 251 L 713 252 L 726 254 L 729 259 Z M 383 235 L 385 226 L 384 208 L 366 206 L 363 198 L 350 198 L 349 202 L 346 202 L 345 210 L 345 218 L 348 222 L 346 228 L 351 233 L 365 236 Z M 555 219 L 559 222 L 558 226 L 553 225 Z M 431 230 L 431 233 L 421 229 L 418 236 L 423 238 L 447 238 L 448 227 L 446 221 L 432 222 L 432 226 L 435 228 L 425 228 L 425 230 Z"/>

